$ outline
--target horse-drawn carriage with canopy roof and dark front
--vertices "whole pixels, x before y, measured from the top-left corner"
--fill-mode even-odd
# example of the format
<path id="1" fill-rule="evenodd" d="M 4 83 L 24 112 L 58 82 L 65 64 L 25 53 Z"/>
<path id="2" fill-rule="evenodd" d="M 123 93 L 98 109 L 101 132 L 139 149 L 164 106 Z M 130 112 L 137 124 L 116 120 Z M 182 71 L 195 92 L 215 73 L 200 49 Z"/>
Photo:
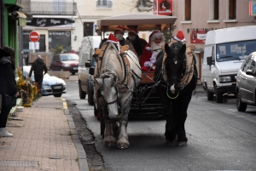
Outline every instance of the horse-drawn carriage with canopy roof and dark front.
<path id="1" fill-rule="evenodd" d="M 166 42 L 169 42 L 172 39 L 172 28 L 176 20 L 177 17 L 165 15 L 127 14 L 97 20 L 97 26 L 102 32 L 102 39 L 106 32 L 113 32 L 117 26 L 123 26 L 126 29 L 137 26 L 138 31 L 161 31 L 166 37 Z M 90 66 L 91 75 L 93 75 L 93 71 L 93 67 Z M 129 115 L 162 116 L 163 107 L 160 103 L 159 96 L 154 94 L 154 72 L 143 71 L 141 77 L 141 84 L 133 94 Z M 95 115 L 99 112 L 96 111 L 96 108 L 97 107 L 95 107 Z"/>

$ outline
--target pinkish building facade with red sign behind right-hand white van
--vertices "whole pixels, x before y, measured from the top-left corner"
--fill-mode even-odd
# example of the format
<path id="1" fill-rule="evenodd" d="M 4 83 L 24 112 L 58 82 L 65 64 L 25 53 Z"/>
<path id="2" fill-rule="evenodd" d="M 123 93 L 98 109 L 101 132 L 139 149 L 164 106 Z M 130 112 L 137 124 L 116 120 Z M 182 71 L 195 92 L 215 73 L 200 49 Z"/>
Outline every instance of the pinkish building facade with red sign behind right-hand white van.
<path id="1" fill-rule="evenodd" d="M 173 16 L 177 16 L 175 35 L 182 30 L 188 43 L 195 44 L 195 55 L 201 77 L 201 60 L 207 31 L 215 29 L 256 25 L 250 16 L 250 0 L 173 0 Z M 255 7 L 256 12 L 256 7 Z M 256 32 L 256 31 L 255 31 Z M 245 32 L 246 34 L 246 32 Z"/>

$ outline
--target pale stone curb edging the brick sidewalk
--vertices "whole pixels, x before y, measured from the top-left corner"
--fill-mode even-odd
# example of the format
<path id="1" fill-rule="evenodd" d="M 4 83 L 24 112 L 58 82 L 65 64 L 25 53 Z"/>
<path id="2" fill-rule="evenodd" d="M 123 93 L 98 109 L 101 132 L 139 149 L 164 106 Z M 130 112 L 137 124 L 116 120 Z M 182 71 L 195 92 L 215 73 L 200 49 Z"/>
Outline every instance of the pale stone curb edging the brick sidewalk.
<path id="1" fill-rule="evenodd" d="M 67 101 L 63 98 L 61 98 L 61 100 L 63 102 L 64 114 L 67 116 L 68 119 L 69 128 L 73 137 L 73 142 L 76 145 L 76 149 L 79 154 L 79 168 L 81 171 L 90 171 L 84 147 L 81 144 L 78 132 L 75 128 L 75 124 L 73 123 L 73 117 L 70 115 L 69 110 L 67 108 Z"/>

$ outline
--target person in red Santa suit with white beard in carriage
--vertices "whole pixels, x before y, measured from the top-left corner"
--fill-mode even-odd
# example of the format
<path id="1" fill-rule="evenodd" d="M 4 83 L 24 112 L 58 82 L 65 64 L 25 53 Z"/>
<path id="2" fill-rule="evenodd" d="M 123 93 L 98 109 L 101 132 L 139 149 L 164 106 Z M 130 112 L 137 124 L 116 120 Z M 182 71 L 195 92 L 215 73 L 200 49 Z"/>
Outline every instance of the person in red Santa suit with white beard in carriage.
<path id="1" fill-rule="evenodd" d="M 143 49 L 140 65 L 143 71 L 154 71 L 156 55 L 160 52 L 162 45 L 165 44 L 166 38 L 160 31 L 153 31 L 148 40 L 148 44 Z"/>

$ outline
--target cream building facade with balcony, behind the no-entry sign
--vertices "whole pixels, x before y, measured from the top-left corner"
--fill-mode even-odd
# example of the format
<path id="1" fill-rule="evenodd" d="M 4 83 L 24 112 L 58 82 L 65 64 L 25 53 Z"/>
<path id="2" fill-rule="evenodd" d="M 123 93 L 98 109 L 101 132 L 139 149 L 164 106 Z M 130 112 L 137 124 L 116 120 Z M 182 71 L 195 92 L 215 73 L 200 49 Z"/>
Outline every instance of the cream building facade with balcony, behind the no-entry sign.
<path id="1" fill-rule="evenodd" d="M 120 14 L 152 14 L 150 0 L 32 0 L 31 19 L 23 29 L 24 52 L 79 51 L 85 36 L 96 35 L 96 20 Z M 30 47 L 29 34 L 40 34 L 38 49 Z"/>

